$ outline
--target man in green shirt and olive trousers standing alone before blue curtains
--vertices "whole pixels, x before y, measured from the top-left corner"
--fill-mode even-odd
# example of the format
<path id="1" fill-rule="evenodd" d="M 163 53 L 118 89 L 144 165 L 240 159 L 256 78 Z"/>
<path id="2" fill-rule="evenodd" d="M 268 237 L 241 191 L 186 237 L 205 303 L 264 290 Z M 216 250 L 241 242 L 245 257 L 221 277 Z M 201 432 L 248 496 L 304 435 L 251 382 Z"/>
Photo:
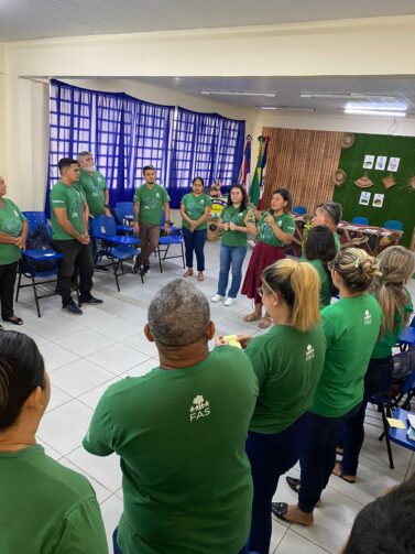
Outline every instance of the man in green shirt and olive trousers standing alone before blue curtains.
<path id="1" fill-rule="evenodd" d="M 164 210 L 164 230 L 170 233 L 170 196 L 167 191 L 155 182 L 155 170 L 146 165 L 143 170 L 145 183 L 134 194 L 134 232 L 141 239 L 141 253 L 136 258 L 133 273 L 141 275 L 150 271 L 150 256 L 159 246 L 160 225 Z"/>

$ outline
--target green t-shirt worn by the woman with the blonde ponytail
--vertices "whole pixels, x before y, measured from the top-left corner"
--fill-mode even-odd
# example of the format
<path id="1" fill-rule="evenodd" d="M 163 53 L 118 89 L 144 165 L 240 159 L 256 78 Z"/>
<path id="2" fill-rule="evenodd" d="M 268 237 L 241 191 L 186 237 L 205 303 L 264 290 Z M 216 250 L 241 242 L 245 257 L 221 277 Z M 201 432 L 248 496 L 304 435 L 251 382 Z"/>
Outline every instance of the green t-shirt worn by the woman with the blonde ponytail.
<path id="1" fill-rule="evenodd" d="M 323 370 L 326 338 L 321 325 L 301 333 L 275 325 L 245 349 L 260 385 L 250 430 L 280 433 L 309 410 Z"/>

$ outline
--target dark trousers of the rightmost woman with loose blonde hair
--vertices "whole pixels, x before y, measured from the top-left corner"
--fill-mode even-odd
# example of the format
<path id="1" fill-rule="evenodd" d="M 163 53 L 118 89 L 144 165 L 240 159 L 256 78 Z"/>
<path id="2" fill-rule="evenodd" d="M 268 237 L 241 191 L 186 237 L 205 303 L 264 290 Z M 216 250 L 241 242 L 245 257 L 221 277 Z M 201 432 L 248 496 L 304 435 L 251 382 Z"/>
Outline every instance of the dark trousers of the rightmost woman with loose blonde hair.
<path id="1" fill-rule="evenodd" d="M 392 384 L 393 358 L 370 360 L 364 376 L 363 402 L 359 411 L 348 417 L 341 430 L 343 458 L 341 468 L 345 475 L 356 476 L 359 465 L 359 454 L 364 441 L 364 414 L 369 399 L 376 392 L 386 390 Z"/>

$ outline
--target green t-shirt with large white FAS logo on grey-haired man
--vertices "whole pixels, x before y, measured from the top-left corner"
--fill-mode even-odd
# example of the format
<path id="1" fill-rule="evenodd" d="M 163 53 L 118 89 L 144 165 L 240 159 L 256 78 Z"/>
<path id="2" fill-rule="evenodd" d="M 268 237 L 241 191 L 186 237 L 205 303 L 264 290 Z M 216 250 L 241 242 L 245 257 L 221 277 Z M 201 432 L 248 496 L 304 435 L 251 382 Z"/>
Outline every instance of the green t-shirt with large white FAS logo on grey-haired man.
<path id="1" fill-rule="evenodd" d="M 85 448 L 121 457 L 118 543 L 140 554 L 231 554 L 251 525 L 245 438 L 258 382 L 236 347 L 193 367 L 153 369 L 110 387 Z"/>

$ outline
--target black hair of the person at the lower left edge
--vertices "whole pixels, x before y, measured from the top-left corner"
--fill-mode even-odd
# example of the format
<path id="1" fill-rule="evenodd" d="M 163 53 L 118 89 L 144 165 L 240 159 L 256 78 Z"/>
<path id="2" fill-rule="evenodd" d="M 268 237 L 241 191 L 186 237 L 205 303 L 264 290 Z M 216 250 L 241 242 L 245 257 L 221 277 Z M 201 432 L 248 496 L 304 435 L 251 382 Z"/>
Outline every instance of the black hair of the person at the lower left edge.
<path id="1" fill-rule="evenodd" d="M 37 387 L 45 387 L 45 365 L 35 341 L 24 333 L 1 332 L 0 431 L 13 425 Z"/>

